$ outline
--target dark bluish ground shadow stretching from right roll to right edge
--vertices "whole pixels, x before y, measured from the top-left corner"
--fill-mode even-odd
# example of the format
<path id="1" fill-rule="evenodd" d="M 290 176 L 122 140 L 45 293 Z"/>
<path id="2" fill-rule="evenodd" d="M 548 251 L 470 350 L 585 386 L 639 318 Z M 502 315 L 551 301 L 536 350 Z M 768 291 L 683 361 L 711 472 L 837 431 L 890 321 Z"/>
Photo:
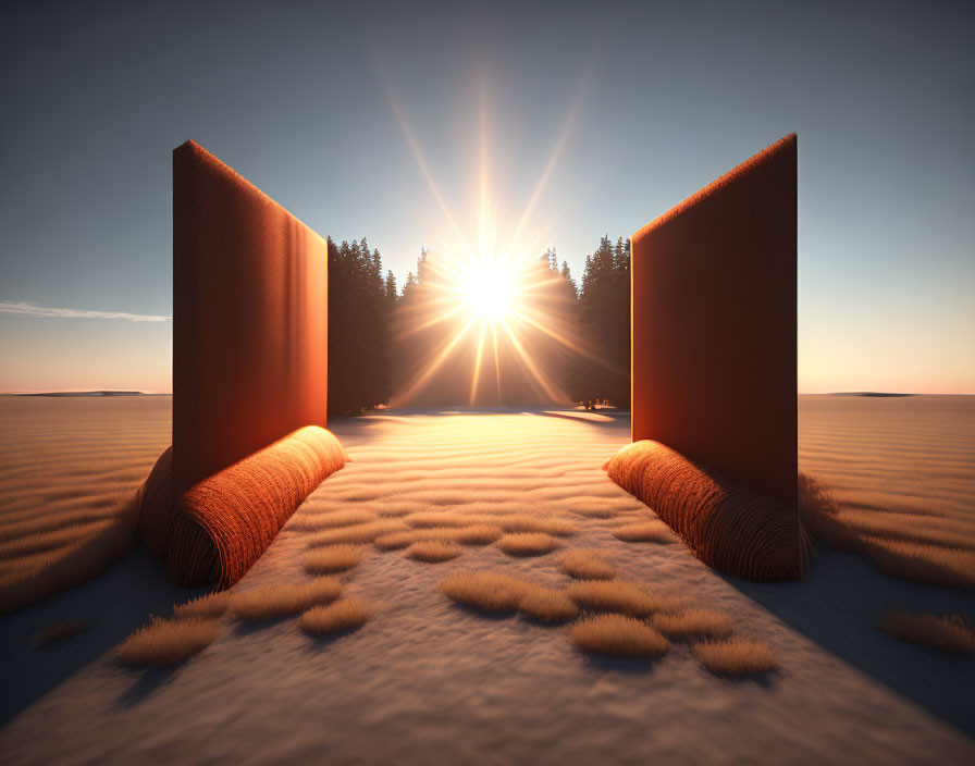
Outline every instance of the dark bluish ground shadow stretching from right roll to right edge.
<path id="1" fill-rule="evenodd" d="M 802 582 L 725 579 L 837 657 L 975 737 L 975 656 L 915 646 L 877 628 L 894 608 L 971 614 L 971 593 L 889 578 L 855 554 L 823 545 Z"/>

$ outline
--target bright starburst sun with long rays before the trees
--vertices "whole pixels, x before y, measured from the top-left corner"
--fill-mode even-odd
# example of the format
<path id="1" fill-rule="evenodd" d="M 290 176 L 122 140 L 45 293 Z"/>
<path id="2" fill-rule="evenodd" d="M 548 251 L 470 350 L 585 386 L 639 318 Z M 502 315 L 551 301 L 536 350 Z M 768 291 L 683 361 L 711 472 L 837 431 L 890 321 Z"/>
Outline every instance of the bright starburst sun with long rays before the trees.
<path id="1" fill-rule="evenodd" d="M 546 371 L 546 360 L 561 353 L 552 349 L 576 354 L 584 354 L 584 349 L 575 342 L 572 328 L 546 311 L 553 292 L 561 288 L 563 277 L 550 269 L 544 257 L 540 258 L 542 232 L 532 231 L 531 217 L 578 111 L 579 96 L 523 212 L 511 221 L 517 224 L 499 230 L 491 203 L 489 110 L 482 91 L 478 225 L 465 231 L 441 194 L 388 82 L 386 91 L 407 146 L 453 232 L 436 237 L 437 247 L 424 250 L 418 268 L 414 288 L 420 293 L 415 297 L 422 297 L 409 304 L 409 329 L 398 339 L 408 343 L 432 333 L 436 341 L 430 351 L 418 356 L 412 379 L 397 400 L 410 403 L 439 375 L 458 374 L 452 367 L 452 360 L 458 358 L 471 359 L 470 404 L 492 383 L 496 393 L 490 398 L 503 400 L 503 367 L 509 379 L 528 381 L 546 400 L 565 400 L 556 378 Z"/>

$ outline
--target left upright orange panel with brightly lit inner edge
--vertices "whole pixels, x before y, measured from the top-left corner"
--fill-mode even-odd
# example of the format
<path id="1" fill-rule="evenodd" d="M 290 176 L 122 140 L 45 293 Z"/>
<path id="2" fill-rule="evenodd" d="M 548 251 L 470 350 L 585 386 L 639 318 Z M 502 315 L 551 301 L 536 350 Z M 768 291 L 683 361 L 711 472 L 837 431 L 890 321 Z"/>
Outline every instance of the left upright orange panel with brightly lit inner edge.
<path id="1" fill-rule="evenodd" d="M 326 425 L 325 240 L 194 141 L 173 151 L 176 494 Z"/>

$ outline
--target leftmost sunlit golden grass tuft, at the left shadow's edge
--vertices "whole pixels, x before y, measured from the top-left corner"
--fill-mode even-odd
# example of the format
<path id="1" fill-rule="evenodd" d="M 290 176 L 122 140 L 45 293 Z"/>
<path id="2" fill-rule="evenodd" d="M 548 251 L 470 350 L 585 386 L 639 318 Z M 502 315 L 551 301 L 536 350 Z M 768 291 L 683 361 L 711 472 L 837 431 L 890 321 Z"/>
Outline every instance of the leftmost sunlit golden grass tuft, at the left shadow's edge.
<path id="1" fill-rule="evenodd" d="M 123 665 L 163 667 L 189 659 L 217 638 L 220 620 L 187 617 L 152 621 L 132 633 L 115 647 L 115 657 Z"/>

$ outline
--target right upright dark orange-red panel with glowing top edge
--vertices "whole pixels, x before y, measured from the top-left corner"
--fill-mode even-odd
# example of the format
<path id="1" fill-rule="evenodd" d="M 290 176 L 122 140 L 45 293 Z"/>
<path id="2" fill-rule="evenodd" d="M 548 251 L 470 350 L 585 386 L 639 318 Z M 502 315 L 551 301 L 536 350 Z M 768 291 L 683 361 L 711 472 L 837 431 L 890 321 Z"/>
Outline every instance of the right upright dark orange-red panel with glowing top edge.
<path id="1" fill-rule="evenodd" d="M 632 239 L 632 438 L 797 504 L 797 138 Z"/>

